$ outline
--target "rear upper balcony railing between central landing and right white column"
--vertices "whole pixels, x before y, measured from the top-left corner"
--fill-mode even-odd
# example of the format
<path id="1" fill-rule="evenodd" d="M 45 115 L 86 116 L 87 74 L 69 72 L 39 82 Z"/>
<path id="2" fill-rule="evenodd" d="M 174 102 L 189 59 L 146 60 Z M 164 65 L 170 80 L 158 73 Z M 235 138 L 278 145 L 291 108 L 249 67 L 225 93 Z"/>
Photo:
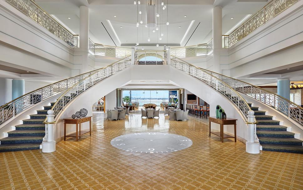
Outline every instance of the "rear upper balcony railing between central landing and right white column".
<path id="1" fill-rule="evenodd" d="M 171 55 L 177 58 L 196 57 L 207 55 L 213 50 L 213 39 L 206 44 L 199 44 L 186 47 L 171 48 Z"/>

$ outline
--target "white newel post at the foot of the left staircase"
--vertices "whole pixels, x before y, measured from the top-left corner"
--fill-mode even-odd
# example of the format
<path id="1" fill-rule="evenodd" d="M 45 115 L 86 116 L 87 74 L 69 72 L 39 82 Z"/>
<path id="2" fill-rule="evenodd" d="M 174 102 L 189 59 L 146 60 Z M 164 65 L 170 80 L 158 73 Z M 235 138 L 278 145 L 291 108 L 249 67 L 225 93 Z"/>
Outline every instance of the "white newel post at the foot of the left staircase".
<path id="1" fill-rule="evenodd" d="M 42 141 L 42 152 L 54 152 L 56 151 L 56 141 L 54 141 L 54 111 L 48 110 L 47 117 L 47 140 Z"/>

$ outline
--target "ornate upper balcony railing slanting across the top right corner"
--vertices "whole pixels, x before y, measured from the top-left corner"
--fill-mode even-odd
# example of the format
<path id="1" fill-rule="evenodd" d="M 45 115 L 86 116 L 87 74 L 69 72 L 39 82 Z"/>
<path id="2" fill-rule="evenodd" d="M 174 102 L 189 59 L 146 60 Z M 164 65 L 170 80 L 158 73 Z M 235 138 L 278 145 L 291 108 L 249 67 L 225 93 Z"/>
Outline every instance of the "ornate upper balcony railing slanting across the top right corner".
<path id="1" fill-rule="evenodd" d="M 285 11 L 290 6 L 294 5 L 300 0 L 271 0 L 257 13 L 249 17 L 247 21 L 241 24 L 229 35 L 224 35 L 224 47 L 229 48 L 230 46 L 237 43 L 240 39 L 244 38 L 255 29 L 264 25 L 277 15 Z"/>

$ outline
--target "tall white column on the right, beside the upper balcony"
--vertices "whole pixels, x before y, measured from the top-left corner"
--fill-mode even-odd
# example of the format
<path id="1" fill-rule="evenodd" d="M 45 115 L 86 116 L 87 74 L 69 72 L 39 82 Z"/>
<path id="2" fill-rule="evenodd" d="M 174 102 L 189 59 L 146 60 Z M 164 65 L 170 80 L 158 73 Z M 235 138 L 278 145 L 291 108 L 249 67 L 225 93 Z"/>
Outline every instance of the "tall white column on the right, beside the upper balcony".
<path id="1" fill-rule="evenodd" d="M 222 7 L 213 8 L 213 67 L 211 70 L 222 73 L 220 69 L 220 53 L 222 49 Z"/>

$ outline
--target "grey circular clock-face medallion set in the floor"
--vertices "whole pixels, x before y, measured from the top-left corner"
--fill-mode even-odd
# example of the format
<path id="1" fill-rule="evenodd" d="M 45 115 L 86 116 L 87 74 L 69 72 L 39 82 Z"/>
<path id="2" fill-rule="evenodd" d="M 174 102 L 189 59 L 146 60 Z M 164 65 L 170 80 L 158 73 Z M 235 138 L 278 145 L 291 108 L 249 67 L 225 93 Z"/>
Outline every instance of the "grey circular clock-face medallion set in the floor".
<path id="1" fill-rule="evenodd" d="M 117 136 L 110 144 L 129 152 L 168 153 L 188 148 L 193 141 L 176 134 L 144 132 Z"/>

